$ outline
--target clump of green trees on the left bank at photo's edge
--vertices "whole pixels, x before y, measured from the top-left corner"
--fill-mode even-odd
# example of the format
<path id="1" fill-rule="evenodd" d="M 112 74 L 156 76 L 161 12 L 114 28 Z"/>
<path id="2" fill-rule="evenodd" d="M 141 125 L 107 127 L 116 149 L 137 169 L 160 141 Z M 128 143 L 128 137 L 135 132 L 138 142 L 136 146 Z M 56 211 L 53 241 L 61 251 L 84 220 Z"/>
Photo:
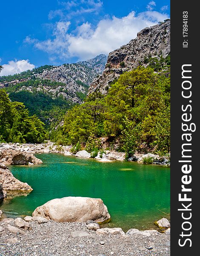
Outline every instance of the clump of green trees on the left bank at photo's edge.
<path id="1" fill-rule="evenodd" d="M 11 102 L 6 91 L 0 89 L 0 142 L 41 143 L 46 131 L 43 122 L 21 102 Z"/>

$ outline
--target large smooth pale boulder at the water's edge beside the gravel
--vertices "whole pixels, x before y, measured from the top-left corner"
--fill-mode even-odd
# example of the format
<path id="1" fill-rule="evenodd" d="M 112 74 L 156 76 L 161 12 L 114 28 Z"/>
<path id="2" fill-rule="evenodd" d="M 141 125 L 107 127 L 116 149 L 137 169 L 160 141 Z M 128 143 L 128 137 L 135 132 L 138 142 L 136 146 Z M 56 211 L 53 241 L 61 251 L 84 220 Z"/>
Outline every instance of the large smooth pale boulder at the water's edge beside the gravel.
<path id="1" fill-rule="evenodd" d="M 32 216 L 41 216 L 57 222 L 93 220 L 101 223 L 110 219 L 108 209 L 100 198 L 71 196 L 48 201 L 37 207 Z"/>

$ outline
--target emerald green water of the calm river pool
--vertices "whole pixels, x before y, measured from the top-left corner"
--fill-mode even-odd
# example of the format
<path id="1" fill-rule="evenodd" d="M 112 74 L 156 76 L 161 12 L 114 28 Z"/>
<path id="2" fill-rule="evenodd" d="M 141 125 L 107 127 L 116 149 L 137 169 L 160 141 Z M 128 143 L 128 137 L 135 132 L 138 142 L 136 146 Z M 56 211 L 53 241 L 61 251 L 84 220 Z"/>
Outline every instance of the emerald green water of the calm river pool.
<path id="1" fill-rule="evenodd" d="M 101 198 L 108 207 L 107 227 L 140 230 L 170 212 L 170 169 L 131 162 L 99 163 L 62 154 L 38 154 L 39 166 L 10 166 L 17 179 L 34 190 L 27 196 L 7 199 L 0 206 L 4 217 L 31 215 L 53 198 Z M 163 211 L 163 212 L 161 212 Z"/>

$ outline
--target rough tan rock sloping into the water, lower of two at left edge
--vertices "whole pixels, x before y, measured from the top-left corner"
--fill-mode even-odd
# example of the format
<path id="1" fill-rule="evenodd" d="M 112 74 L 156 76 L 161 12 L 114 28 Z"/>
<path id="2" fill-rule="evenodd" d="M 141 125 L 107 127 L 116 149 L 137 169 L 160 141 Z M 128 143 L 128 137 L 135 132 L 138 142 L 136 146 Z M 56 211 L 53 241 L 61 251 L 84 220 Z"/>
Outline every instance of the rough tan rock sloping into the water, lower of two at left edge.
<path id="1" fill-rule="evenodd" d="M 0 163 L 0 183 L 2 189 L 8 191 L 31 192 L 33 190 L 27 183 L 17 180 L 5 164 Z"/>

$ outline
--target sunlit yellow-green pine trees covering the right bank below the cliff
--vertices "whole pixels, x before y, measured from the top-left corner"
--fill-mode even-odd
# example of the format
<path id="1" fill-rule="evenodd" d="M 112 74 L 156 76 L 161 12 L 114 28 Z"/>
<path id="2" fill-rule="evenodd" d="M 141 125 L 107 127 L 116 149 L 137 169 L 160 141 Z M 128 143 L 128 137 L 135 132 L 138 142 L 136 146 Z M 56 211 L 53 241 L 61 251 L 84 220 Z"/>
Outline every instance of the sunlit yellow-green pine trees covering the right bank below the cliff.
<path id="1" fill-rule="evenodd" d="M 169 67 L 159 73 L 152 67 L 123 73 L 107 96 L 91 93 L 82 105 L 69 110 L 63 127 L 52 131 L 51 139 L 79 145 L 103 136 L 118 141 L 117 149 L 126 157 L 135 151 L 169 154 Z"/>

